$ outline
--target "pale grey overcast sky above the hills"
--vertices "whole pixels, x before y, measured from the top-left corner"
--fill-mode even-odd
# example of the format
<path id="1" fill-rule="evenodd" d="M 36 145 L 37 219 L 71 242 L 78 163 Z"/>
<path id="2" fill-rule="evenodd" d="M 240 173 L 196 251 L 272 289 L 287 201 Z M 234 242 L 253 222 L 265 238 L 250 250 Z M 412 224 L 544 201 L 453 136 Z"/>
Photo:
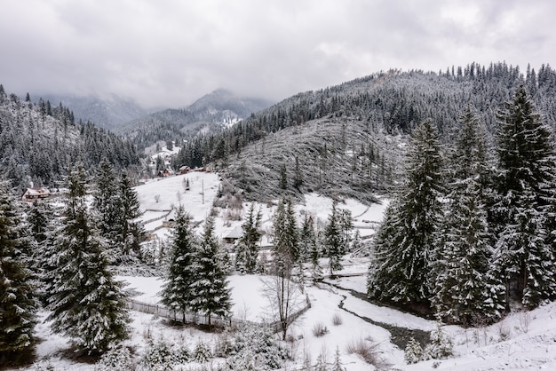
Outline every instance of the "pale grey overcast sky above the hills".
<path id="1" fill-rule="evenodd" d="M 2 0 L 7 92 L 184 107 L 280 100 L 390 68 L 556 66 L 552 0 Z"/>

